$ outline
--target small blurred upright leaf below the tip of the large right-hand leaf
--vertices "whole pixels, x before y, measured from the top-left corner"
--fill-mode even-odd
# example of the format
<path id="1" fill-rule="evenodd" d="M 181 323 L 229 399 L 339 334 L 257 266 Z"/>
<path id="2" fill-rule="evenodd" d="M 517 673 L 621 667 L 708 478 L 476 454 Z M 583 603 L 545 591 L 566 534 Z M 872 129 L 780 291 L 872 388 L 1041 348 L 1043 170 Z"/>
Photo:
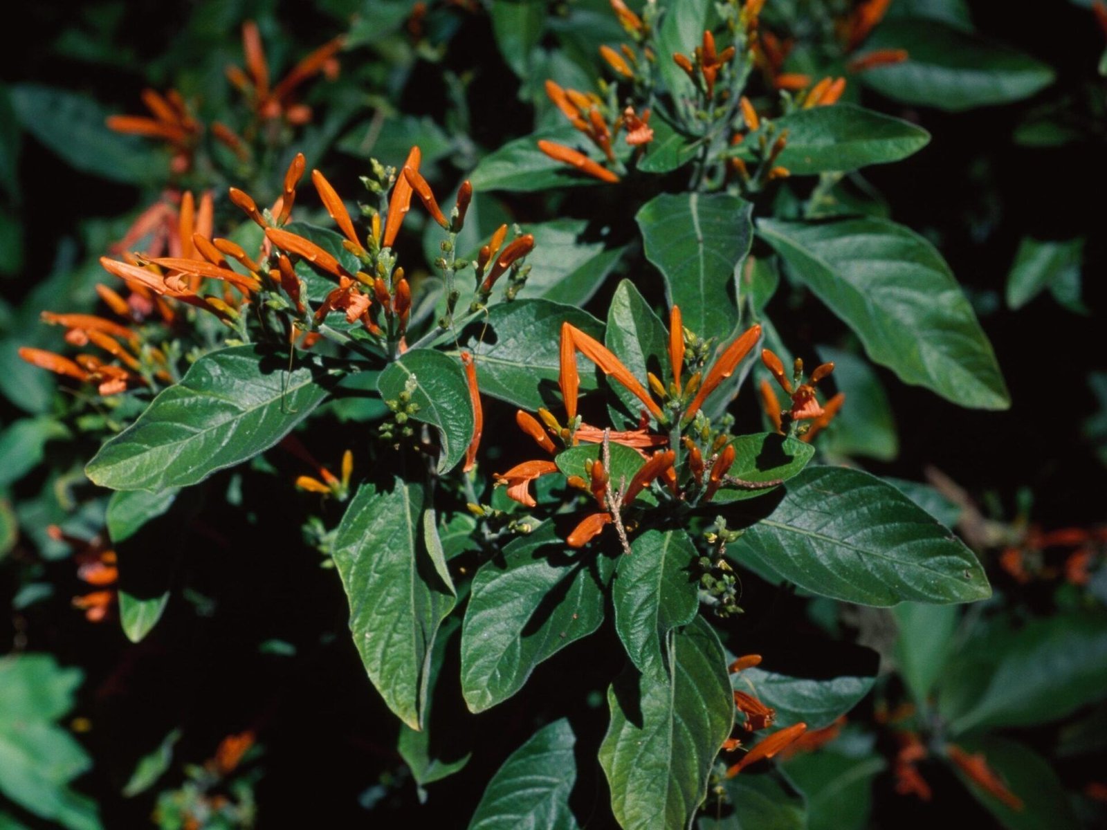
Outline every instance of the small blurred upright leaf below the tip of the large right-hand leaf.
<path id="1" fill-rule="evenodd" d="M 892 613 L 899 625 L 897 667 L 912 697 L 923 705 L 945 668 L 958 627 L 958 608 L 904 602 Z"/>

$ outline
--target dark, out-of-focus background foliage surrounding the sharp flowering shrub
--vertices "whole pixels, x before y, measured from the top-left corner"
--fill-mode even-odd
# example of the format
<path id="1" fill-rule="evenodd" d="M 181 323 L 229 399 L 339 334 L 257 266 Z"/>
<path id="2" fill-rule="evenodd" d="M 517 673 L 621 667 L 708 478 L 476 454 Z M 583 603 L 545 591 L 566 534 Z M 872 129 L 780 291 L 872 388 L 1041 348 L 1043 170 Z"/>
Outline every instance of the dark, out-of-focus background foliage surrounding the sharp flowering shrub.
<path id="1" fill-rule="evenodd" d="M 371 156 L 399 164 L 418 144 L 424 175 L 451 190 L 489 151 L 556 124 L 541 82 L 590 86 L 598 45 L 621 38 L 599 0 L 416 6 L 45 2 L 24 7 L 10 30 L 0 54 L 0 631 L 10 652 L 0 658 L 0 828 L 139 827 L 152 815 L 165 828 L 250 827 L 255 815 L 261 827 L 320 816 L 334 827 L 401 817 L 456 827 L 508 753 L 563 714 L 559 701 L 590 701 L 572 716 L 602 728 L 606 675 L 566 671 L 560 656 L 509 703 L 458 715 L 449 746 L 402 740 L 397 751 L 396 727 L 345 636 L 338 580 L 321 579 L 309 547 L 289 541 L 304 532 L 303 499 L 287 486 L 291 464 L 224 474 L 225 498 L 173 500 L 154 527 L 116 546 L 135 562 L 135 582 L 121 588 L 145 598 L 124 621 L 141 642 L 72 606 L 87 590 L 79 563 L 101 556 L 95 539 L 113 521 L 83 463 L 126 413 L 79 406 L 18 360 L 22 345 L 62 345 L 40 312 L 92 309 L 99 257 L 166 187 L 223 194 L 235 185 L 271 199 L 297 151 L 332 181 L 352 183 Z M 814 6 L 769 0 L 766 18 L 804 21 Z M 826 450 L 904 487 L 927 480 L 919 498 L 956 525 L 995 587 L 992 600 L 968 609 L 889 612 L 744 575 L 749 618 L 762 621 L 736 623 L 745 651 L 787 653 L 811 676 L 834 661 L 841 674 L 842 662 L 859 660 L 858 645 L 880 655 L 876 686 L 841 736 L 785 765 L 808 827 L 930 827 L 953 816 L 1092 827 L 1107 815 L 1107 240 L 1098 207 L 1107 118 L 1105 34 L 1089 7 L 896 0 L 877 32 L 889 43 L 897 25 L 900 37 L 943 25 L 1032 55 L 1052 70 L 1048 82 L 994 105 L 958 101 L 955 90 L 921 100 L 894 82 L 850 86 L 866 105 L 933 136 L 910 159 L 850 184 L 867 210 L 922 232 L 951 263 L 1004 369 L 1008 411 L 959 409 L 894 381 L 836 340 L 829 313 L 796 286 L 773 299 L 774 314 L 787 314 L 800 340 L 838 364 L 838 388 L 857 402 L 828 430 Z M 142 91 L 153 87 L 178 90 L 205 124 L 248 129 L 249 108 L 226 76 L 242 63 L 247 20 L 257 21 L 275 76 L 346 37 L 337 76 L 300 90 L 308 123 L 280 122 L 249 160 L 205 138 L 173 176 L 173 154 L 159 143 L 106 128 L 110 114 L 139 112 Z M 582 193 L 482 194 L 475 205 L 490 227 L 501 217 L 587 216 L 597 197 Z M 620 207 L 602 205 L 613 217 Z M 217 210 L 229 208 L 220 201 Z M 413 212 L 408 222 L 418 221 Z M 402 241 L 408 261 L 416 237 Z M 590 289 L 593 302 L 602 308 L 613 286 Z M 335 443 L 328 457 L 340 452 Z M 153 557 L 161 570 L 141 584 Z M 157 582 L 166 561 L 167 606 Z M 795 644 L 797 632 L 808 646 Z M 618 658 L 618 643 L 597 649 Z M 969 753 L 985 750 L 1024 793 L 1024 809 L 976 784 L 966 792 L 932 764 L 922 771 L 933 798 L 897 792 L 909 778 L 904 736 L 934 728 Z M 469 751 L 465 777 L 424 789 L 448 771 L 430 758 L 448 766 Z M 203 823 L 188 823 L 198 816 Z"/>

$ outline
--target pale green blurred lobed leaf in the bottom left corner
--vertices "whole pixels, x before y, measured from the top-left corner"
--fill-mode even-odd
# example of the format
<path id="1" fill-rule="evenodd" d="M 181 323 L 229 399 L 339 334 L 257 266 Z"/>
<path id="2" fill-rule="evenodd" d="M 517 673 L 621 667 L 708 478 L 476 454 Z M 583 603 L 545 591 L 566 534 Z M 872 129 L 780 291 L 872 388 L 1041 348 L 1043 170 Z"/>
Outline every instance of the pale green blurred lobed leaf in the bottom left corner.
<path id="1" fill-rule="evenodd" d="M 45 654 L 0 661 L 0 795 L 69 830 L 100 830 L 93 801 L 69 788 L 92 759 L 53 722 L 73 707 L 81 672 Z"/>

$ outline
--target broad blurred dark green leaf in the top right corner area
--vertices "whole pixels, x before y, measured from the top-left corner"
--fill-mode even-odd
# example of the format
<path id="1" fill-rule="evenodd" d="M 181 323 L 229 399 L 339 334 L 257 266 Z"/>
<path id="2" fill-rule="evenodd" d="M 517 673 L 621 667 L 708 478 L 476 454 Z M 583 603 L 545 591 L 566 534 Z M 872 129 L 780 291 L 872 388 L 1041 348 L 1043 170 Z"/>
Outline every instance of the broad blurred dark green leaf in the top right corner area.
<path id="1" fill-rule="evenodd" d="M 1045 63 L 935 20 L 889 20 L 858 56 L 878 49 L 906 49 L 909 56 L 863 72 L 861 82 L 906 104 L 959 112 L 1021 101 L 1054 80 Z"/>

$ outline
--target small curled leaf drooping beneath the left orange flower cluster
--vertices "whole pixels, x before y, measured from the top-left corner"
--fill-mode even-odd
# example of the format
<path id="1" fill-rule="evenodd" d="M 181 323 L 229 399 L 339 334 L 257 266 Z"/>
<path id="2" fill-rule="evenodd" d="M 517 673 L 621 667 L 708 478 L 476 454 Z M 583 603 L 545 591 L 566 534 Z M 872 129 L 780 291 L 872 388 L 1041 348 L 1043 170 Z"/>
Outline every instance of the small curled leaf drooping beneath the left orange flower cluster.
<path id="1" fill-rule="evenodd" d="M 461 463 L 473 439 L 475 422 L 465 370 L 457 357 L 433 349 L 414 349 L 381 372 L 376 390 L 385 401 L 395 401 L 407 391 L 411 402 L 418 406 L 412 417 L 438 430 L 438 473 Z"/>

